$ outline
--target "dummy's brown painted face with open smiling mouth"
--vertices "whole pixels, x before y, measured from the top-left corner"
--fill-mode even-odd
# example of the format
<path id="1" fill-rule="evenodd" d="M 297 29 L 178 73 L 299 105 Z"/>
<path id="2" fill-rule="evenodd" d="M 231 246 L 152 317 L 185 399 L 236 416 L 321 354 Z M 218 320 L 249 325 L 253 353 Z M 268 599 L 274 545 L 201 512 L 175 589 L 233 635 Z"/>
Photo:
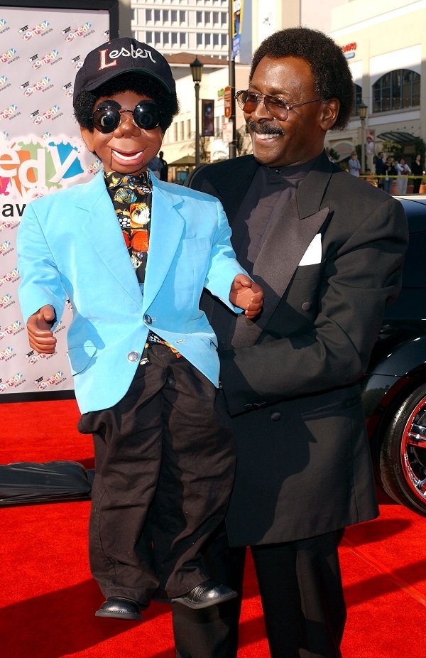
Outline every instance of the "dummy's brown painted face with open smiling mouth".
<path id="1" fill-rule="evenodd" d="M 99 112 L 98 108 L 99 106 L 100 109 L 105 107 L 107 101 L 112 101 L 111 107 L 114 111 L 109 115 L 99 117 L 102 112 Z M 152 124 L 155 124 L 155 121 L 149 119 L 148 115 L 144 114 L 140 108 L 136 108 L 133 116 L 136 105 L 143 101 L 153 102 L 153 99 L 131 91 L 97 99 L 94 105 L 95 125 L 99 124 L 100 128 L 105 126 L 109 131 L 102 132 L 94 128 L 91 132 L 86 128 L 82 128 L 81 132 L 87 149 L 97 154 L 105 170 L 131 173 L 133 175 L 141 173 L 146 171 L 148 162 L 160 150 L 164 136 L 160 126 L 152 129 L 141 127 L 141 125 L 151 127 Z M 140 107 L 143 108 L 143 105 Z M 147 112 L 150 107 L 152 109 L 149 104 L 146 106 Z M 121 122 L 114 127 L 118 120 L 118 117 L 117 120 L 114 119 L 117 109 L 119 109 Z M 99 118 L 100 122 L 97 121 Z"/>

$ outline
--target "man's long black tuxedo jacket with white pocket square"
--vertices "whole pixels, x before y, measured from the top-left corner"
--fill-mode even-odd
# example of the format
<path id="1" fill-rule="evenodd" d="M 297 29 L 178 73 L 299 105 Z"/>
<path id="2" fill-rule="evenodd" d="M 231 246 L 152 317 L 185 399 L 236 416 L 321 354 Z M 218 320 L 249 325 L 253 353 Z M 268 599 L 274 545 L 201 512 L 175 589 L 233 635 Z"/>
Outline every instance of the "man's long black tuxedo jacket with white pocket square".
<path id="1" fill-rule="evenodd" d="M 187 184 L 217 196 L 232 227 L 257 167 L 244 156 L 203 166 Z M 300 264 L 317 234 L 320 257 Z M 407 242 L 400 203 L 325 154 L 268 234 L 253 266 L 265 292 L 261 316 L 240 316 L 219 352 L 238 443 L 231 545 L 291 541 L 376 516 L 358 382 L 398 294 Z"/>

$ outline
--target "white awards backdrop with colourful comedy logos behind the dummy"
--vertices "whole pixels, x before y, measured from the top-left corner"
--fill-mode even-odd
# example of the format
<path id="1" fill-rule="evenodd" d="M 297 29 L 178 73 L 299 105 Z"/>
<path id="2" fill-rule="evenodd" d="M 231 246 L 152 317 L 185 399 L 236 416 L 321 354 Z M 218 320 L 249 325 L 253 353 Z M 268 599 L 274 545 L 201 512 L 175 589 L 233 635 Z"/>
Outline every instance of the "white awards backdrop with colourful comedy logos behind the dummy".
<path id="1" fill-rule="evenodd" d="M 72 394 L 66 343 L 72 308 L 67 303 L 55 330 L 55 354 L 31 350 L 18 303 L 16 232 L 26 203 L 99 170 L 73 118 L 72 92 L 89 50 L 107 41 L 110 30 L 118 36 L 111 23 L 118 0 L 91 3 L 91 9 L 86 3 L 67 9 L 66 1 L 43 8 L 11 4 L 0 4 L 0 402 Z"/>

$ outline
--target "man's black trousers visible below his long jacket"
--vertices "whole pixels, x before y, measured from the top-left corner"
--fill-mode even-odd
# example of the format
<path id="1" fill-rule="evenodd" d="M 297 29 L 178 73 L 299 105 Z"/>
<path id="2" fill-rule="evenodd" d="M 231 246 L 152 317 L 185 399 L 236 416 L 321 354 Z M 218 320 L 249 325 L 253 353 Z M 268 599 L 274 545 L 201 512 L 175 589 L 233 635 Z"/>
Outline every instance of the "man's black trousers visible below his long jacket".
<path id="1" fill-rule="evenodd" d="M 341 658 L 346 620 L 337 554 L 341 537 L 342 532 L 329 532 L 251 547 L 271 658 Z M 229 549 L 224 532 L 210 541 L 209 572 L 240 597 L 199 611 L 173 606 L 178 658 L 236 658 L 245 556 L 244 548 Z"/>

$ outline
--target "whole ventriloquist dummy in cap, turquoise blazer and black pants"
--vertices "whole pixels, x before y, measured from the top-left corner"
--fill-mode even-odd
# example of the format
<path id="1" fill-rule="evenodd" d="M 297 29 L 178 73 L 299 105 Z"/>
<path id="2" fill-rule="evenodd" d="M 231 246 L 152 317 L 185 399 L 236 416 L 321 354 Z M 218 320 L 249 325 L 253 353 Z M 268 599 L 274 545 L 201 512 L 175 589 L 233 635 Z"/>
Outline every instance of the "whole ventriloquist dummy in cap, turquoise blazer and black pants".
<path id="1" fill-rule="evenodd" d="M 74 112 L 103 170 L 26 206 L 19 299 L 45 354 L 72 304 L 79 429 L 94 439 L 89 554 L 106 599 L 96 615 L 140 620 L 153 596 L 215 606 L 236 592 L 209 577 L 202 547 L 223 522 L 235 448 L 199 302 L 205 286 L 252 318 L 261 288 L 235 259 L 219 201 L 151 176 L 178 113 L 163 55 L 129 38 L 99 45 L 77 72 Z"/>

